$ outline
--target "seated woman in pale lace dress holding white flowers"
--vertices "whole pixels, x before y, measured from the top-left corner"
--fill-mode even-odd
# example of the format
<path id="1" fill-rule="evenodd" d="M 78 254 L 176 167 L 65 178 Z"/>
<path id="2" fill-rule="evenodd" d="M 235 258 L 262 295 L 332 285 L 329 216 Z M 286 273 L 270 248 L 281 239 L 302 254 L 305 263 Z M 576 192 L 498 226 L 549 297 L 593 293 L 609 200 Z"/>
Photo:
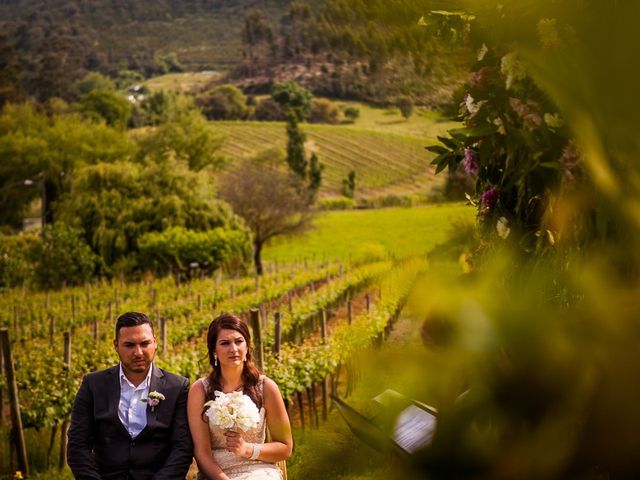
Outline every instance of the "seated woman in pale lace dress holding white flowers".
<path id="1" fill-rule="evenodd" d="M 278 386 L 253 363 L 247 324 L 235 315 L 220 315 L 209 325 L 207 349 L 211 373 L 193 383 L 187 404 L 198 478 L 281 479 L 276 462 L 291 455 L 291 424 Z M 215 391 L 249 396 L 260 412 L 258 426 L 235 432 L 209 424 L 204 404 L 215 399 Z M 267 427 L 271 441 L 264 443 Z"/>

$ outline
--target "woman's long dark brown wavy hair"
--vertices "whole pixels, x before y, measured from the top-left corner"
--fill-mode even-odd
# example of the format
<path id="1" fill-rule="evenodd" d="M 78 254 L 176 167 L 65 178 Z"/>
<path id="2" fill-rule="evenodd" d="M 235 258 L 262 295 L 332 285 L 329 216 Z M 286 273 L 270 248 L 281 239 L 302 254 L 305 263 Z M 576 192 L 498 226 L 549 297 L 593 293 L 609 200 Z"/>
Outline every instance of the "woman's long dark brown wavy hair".
<path id="1" fill-rule="evenodd" d="M 260 371 L 253 363 L 253 345 L 251 344 L 251 334 L 249 333 L 249 327 L 240 317 L 232 315 L 230 313 L 223 313 L 214 318 L 209 324 L 209 330 L 207 332 L 207 350 L 209 353 L 209 364 L 211 365 L 211 373 L 209 374 L 209 391 L 206 392 L 206 399 L 215 399 L 214 392 L 216 390 L 222 391 L 222 385 L 220 384 L 221 371 L 220 362 L 216 366 L 214 354 L 216 351 L 216 342 L 218 341 L 218 335 L 220 330 L 235 330 L 239 332 L 245 342 L 247 342 L 247 361 L 244 362 L 242 368 L 242 393 L 248 395 L 253 403 L 258 408 L 262 407 L 262 395 L 258 390 L 258 380 L 260 380 Z"/>

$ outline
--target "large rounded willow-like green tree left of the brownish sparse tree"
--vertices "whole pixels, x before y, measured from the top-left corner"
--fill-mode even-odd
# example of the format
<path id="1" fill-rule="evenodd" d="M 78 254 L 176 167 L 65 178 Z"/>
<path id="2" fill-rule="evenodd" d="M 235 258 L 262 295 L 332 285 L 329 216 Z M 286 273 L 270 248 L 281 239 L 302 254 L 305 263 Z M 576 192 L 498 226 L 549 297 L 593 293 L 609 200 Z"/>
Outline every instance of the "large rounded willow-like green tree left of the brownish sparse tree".
<path id="1" fill-rule="evenodd" d="M 108 272 L 137 268 L 138 240 L 149 232 L 244 228 L 214 199 L 206 177 L 175 157 L 87 166 L 74 175 L 56 213 L 84 230 Z"/>

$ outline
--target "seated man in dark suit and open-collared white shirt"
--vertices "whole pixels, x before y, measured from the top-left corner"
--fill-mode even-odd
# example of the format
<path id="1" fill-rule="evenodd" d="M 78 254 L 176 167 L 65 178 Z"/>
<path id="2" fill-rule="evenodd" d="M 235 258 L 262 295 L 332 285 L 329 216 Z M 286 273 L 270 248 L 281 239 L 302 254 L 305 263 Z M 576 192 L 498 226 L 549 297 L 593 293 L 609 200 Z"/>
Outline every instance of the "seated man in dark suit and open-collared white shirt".
<path id="1" fill-rule="evenodd" d="M 193 453 L 186 378 L 156 367 L 146 315 L 127 312 L 113 341 L 120 364 L 84 377 L 71 410 L 76 479 L 184 480 Z"/>

